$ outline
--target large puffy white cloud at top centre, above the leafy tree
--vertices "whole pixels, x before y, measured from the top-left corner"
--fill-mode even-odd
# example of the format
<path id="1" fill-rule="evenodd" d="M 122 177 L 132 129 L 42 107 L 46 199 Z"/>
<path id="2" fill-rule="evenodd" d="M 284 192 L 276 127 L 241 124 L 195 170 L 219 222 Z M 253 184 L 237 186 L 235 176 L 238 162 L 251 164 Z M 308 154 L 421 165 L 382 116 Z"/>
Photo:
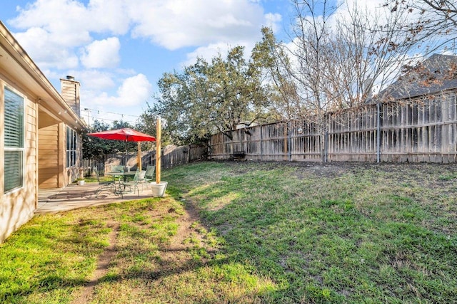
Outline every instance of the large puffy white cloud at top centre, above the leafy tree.
<path id="1" fill-rule="evenodd" d="M 263 8 L 247 0 L 142 0 L 129 14 L 134 37 L 170 50 L 255 39 L 265 22 Z"/>

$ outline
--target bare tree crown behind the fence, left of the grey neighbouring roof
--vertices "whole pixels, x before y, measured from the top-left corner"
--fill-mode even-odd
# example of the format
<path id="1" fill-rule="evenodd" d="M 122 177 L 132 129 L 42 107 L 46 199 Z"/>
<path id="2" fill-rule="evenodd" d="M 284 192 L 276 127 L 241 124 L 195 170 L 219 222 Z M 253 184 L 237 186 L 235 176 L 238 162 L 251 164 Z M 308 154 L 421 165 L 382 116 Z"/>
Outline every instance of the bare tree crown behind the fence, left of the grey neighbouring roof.
<path id="1" fill-rule="evenodd" d="M 363 105 L 377 90 L 393 83 L 401 67 L 415 60 L 411 34 L 398 31 L 408 16 L 386 7 L 367 9 L 357 3 L 347 8 L 347 17 L 336 21 L 333 82 L 341 84 L 338 106 Z M 339 77 L 338 77 L 339 76 Z M 337 85 L 338 86 L 338 85 Z"/>

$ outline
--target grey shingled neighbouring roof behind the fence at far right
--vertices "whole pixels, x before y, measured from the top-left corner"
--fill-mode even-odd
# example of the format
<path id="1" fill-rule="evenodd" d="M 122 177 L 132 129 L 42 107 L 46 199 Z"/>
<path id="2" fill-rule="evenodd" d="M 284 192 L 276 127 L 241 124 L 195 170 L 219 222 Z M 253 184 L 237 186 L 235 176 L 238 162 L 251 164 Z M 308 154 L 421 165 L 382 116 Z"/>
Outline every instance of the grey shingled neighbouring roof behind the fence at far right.
<path id="1" fill-rule="evenodd" d="M 457 89 L 457 56 L 433 54 L 382 90 L 376 99 L 400 100 Z"/>

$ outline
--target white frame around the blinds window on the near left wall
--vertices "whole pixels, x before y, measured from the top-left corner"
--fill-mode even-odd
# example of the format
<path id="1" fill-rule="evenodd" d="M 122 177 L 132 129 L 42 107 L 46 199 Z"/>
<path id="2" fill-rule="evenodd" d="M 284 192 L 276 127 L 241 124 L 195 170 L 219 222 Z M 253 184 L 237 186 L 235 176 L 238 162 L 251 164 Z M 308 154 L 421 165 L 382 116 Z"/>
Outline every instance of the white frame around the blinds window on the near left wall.
<path id="1" fill-rule="evenodd" d="M 20 98 L 21 104 L 19 105 L 20 109 L 20 114 L 21 114 L 21 129 L 22 129 L 22 134 L 20 138 L 21 145 L 20 147 L 9 147 L 6 145 L 6 92 L 9 92 L 13 95 L 15 95 L 17 98 Z M 9 88 L 6 85 L 3 86 L 3 101 L 4 101 L 4 120 L 3 120 L 3 127 L 4 127 L 4 159 L 6 159 L 6 152 L 19 152 L 19 174 L 21 175 L 19 184 L 17 184 L 15 187 L 12 187 L 10 189 L 6 189 L 6 176 L 4 173 L 4 194 L 9 194 L 11 192 L 16 192 L 19 189 L 23 189 L 25 185 L 25 176 L 26 176 L 26 162 L 25 162 L 25 154 L 26 154 L 26 98 L 24 98 L 24 95 L 21 95 L 18 93 L 16 90 L 13 88 Z M 4 172 L 5 170 L 6 163 L 4 163 Z"/>

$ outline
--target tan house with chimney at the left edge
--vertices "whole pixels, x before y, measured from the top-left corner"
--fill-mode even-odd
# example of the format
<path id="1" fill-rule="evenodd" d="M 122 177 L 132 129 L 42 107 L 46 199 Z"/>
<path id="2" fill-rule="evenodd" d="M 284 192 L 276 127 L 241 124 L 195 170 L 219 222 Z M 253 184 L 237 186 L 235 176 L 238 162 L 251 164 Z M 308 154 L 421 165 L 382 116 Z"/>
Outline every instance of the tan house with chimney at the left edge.
<path id="1" fill-rule="evenodd" d="M 79 82 L 49 82 L 0 22 L 0 243 L 34 216 L 39 189 L 79 174 Z"/>

